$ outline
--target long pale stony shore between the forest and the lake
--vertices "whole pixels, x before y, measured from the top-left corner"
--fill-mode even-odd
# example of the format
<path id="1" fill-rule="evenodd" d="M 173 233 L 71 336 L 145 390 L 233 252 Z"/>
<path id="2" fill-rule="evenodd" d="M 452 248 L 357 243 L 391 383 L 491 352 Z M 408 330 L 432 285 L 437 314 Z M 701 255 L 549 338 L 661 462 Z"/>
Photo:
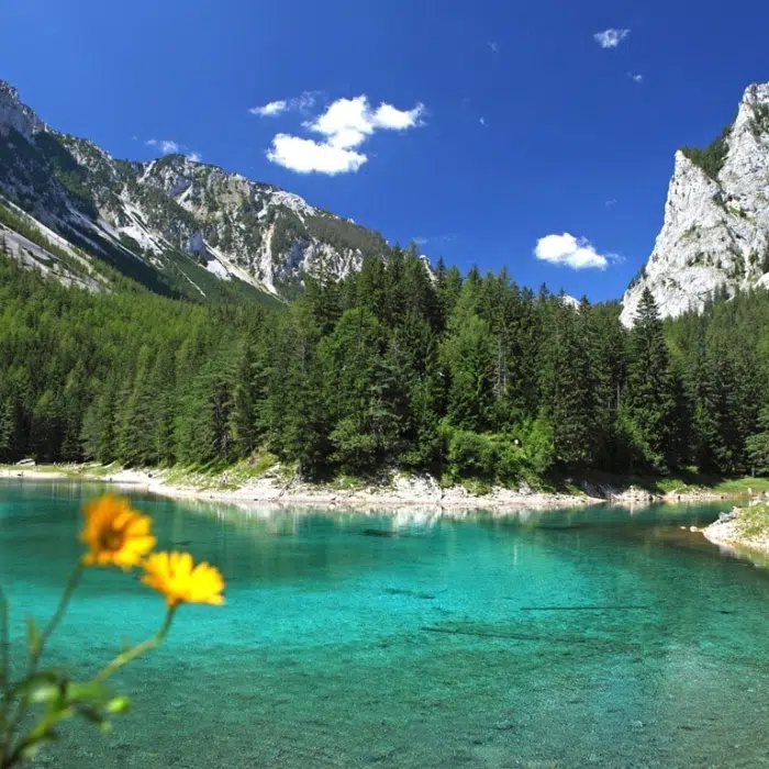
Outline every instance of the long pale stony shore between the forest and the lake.
<path id="1" fill-rule="evenodd" d="M 576 493 L 535 491 L 493 487 L 489 493 L 473 493 L 462 486 L 442 487 L 428 475 L 394 473 L 387 483 L 360 483 L 354 488 L 316 484 L 267 471 L 245 482 L 221 479 L 207 482 L 175 482 L 168 470 L 104 468 L 96 465 L 5 467 L 0 478 L 14 480 L 69 479 L 100 481 L 118 487 L 141 488 L 152 493 L 209 501 L 254 505 L 307 505 L 349 510 L 421 508 L 461 511 L 489 511 L 504 514 L 524 509 L 568 509 L 598 504 L 645 506 L 648 504 L 691 503 L 723 500 L 728 494 L 703 489 L 653 493 L 635 486 L 588 486 Z"/>

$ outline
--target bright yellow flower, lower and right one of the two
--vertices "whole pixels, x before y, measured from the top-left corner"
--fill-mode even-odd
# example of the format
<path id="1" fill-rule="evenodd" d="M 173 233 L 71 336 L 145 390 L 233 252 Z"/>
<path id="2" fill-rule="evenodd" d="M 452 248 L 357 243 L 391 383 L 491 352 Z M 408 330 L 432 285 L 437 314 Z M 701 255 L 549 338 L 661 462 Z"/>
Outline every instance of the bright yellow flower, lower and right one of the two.
<path id="1" fill-rule="evenodd" d="M 170 608 L 180 603 L 224 603 L 224 579 L 210 564 L 194 566 L 189 553 L 153 553 L 142 582 L 159 590 Z"/>

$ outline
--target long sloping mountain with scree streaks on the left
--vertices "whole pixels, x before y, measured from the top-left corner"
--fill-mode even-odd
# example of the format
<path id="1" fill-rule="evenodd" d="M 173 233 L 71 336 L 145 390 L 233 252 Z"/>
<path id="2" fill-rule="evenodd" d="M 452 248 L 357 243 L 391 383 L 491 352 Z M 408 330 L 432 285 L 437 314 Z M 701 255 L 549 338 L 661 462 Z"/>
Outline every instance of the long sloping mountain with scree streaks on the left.
<path id="1" fill-rule="evenodd" d="M 307 274 L 344 276 L 389 248 L 297 194 L 183 155 L 116 160 L 48 126 L 1 80 L 0 235 L 68 282 L 122 275 L 196 299 L 285 299 Z"/>

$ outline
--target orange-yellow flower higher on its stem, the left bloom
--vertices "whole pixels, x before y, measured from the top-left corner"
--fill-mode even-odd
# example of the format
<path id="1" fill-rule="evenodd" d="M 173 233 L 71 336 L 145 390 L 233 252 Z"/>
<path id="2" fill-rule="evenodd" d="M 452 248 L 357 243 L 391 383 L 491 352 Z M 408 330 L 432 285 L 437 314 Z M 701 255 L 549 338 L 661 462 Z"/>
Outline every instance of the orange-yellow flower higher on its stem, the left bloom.
<path id="1" fill-rule="evenodd" d="M 120 566 L 130 569 L 138 566 L 149 550 L 155 547 L 152 535 L 152 520 L 148 515 L 133 510 L 126 499 L 103 494 L 88 502 L 82 514 L 86 525 L 81 542 L 90 550 L 83 556 L 86 566 Z"/>

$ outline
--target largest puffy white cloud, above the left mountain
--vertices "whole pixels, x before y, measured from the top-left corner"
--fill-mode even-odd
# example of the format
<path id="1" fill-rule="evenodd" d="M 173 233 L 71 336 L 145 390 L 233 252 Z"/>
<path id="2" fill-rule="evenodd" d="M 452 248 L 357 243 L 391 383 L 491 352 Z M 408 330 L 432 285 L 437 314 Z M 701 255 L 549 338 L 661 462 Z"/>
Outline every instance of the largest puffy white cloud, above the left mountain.
<path id="1" fill-rule="evenodd" d="M 376 131 L 405 131 L 422 124 L 424 105 L 399 110 L 381 103 L 375 110 L 366 96 L 337 99 L 323 114 L 303 123 L 321 134 L 323 141 L 280 133 L 272 140 L 267 158 L 299 174 L 347 174 L 357 171 L 368 160 L 356 152 Z"/>

